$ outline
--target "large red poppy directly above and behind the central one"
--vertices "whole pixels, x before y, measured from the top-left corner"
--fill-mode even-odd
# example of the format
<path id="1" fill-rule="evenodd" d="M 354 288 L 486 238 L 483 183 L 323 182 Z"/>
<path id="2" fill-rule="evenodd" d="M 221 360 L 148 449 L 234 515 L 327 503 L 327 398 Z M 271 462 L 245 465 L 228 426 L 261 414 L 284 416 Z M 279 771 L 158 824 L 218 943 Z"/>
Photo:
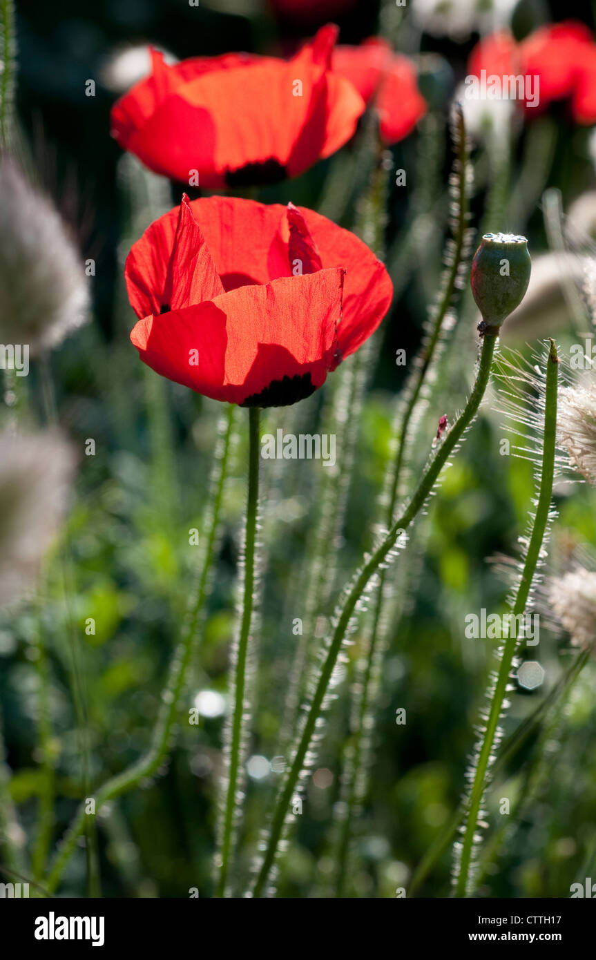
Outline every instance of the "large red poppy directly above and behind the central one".
<path id="1" fill-rule="evenodd" d="M 111 111 L 118 143 L 158 174 L 219 187 L 296 177 L 350 138 L 364 110 L 330 69 L 337 27 L 322 27 L 292 60 L 228 54 L 153 72 Z M 196 175 L 195 175 L 196 176 Z"/>

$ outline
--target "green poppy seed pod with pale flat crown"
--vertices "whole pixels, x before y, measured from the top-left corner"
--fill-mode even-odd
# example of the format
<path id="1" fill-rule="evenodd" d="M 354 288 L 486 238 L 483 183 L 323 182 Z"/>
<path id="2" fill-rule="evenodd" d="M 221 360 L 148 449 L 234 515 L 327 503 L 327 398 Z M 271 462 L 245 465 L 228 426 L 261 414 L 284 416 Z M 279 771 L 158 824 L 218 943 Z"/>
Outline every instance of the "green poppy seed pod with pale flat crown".
<path id="1" fill-rule="evenodd" d="M 496 332 L 524 298 L 532 261 L 525 237 L 485 233 L 472 260 L 471 285 L 482 314 L 480 333 Z"/>

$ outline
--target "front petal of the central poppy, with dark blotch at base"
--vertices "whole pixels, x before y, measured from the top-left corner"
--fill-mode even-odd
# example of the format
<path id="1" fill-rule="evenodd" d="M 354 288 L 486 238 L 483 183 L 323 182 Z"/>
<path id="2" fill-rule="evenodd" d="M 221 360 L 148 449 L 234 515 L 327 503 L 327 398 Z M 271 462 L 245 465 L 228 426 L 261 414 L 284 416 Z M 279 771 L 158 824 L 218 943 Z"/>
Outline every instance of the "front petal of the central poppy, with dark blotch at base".
<path id="1" fill-rule="evenodd" d="M 343 271 L 237 288 L 140 320 L 131 342 L 155 372 L 231 403 L 284 405 L 322 386 L 335 352 Z"/>

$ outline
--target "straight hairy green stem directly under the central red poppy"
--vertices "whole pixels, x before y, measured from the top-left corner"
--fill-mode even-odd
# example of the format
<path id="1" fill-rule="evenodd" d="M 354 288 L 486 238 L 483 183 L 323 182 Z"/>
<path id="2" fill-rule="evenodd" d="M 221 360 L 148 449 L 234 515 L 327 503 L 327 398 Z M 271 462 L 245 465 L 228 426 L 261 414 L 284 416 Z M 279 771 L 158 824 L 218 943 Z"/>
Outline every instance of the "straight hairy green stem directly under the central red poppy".
<path id="1" fill-rule="evenodd" d="M 219 878 L 217 896 L 225 897 L 234 838 L 234 821 L 238 806 L 239 781 L 243 754 L 243 726 L 246 716 L 247 662 L 249 657 L 250 627 L 254 608 L 255 546 L 259 494 L 259 417 L 260 408 L 250 407 L 249 428 L 249 493 L 244 546 L 244 588 L 240 633 L 234 650 L 234 712 L 228 728 L 226 750 L 226 800 L 223 809 L 221 839 L 218 856 Z"/>

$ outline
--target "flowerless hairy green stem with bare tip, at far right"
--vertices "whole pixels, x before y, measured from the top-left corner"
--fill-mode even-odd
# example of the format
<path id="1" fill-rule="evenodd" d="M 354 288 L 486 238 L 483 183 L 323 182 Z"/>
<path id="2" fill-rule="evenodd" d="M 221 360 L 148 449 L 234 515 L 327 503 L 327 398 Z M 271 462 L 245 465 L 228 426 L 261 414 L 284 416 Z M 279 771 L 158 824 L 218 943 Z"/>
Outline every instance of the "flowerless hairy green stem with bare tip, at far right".
<path id="1" fill-rule="evenodd" d="M 526 559 L 523 566 L 521 580 L 513 603 L 513 615 L 517 616 L 526 609 L 532 581 L 536 573 L 536 564 L 540 555 L 540 547 L 548 524 L 548 516 L 553 495 L 553 480 L 555 476 L 555 453 L 557 443 L 557 387 L 558 387 L 559 357 L 555 342 L 551 340 L 547 367 L 546 367 L 546 398 L 544 408 L 544 446 L 542 449 L 542 468 L 540 474 L 540 492 L 536 506 L 536 515 L 532 535 L 528 544 Z M 516 632 L 513 631 L 513 634 Z M 503 701 L 509 675 L 512 669 L 513 656 L 517 646 L 517 637 L 507 638 L 502 651 L 501 662 L 497 674 L 496 684 L 492 693 L 489 717 L 485 726 L 482 746 L 474 771 L 474 779 L 467 804 L 465 834 L 462 841 L 459 860 L 458 876 L 454 895 L 465 897 L 469 887 L 469 873 L 474 850 L 474 835 L 477 829 L 478 815 L 487 785 L 490 756 L 492 755 L 495 736 L 498 730 Z"/>

